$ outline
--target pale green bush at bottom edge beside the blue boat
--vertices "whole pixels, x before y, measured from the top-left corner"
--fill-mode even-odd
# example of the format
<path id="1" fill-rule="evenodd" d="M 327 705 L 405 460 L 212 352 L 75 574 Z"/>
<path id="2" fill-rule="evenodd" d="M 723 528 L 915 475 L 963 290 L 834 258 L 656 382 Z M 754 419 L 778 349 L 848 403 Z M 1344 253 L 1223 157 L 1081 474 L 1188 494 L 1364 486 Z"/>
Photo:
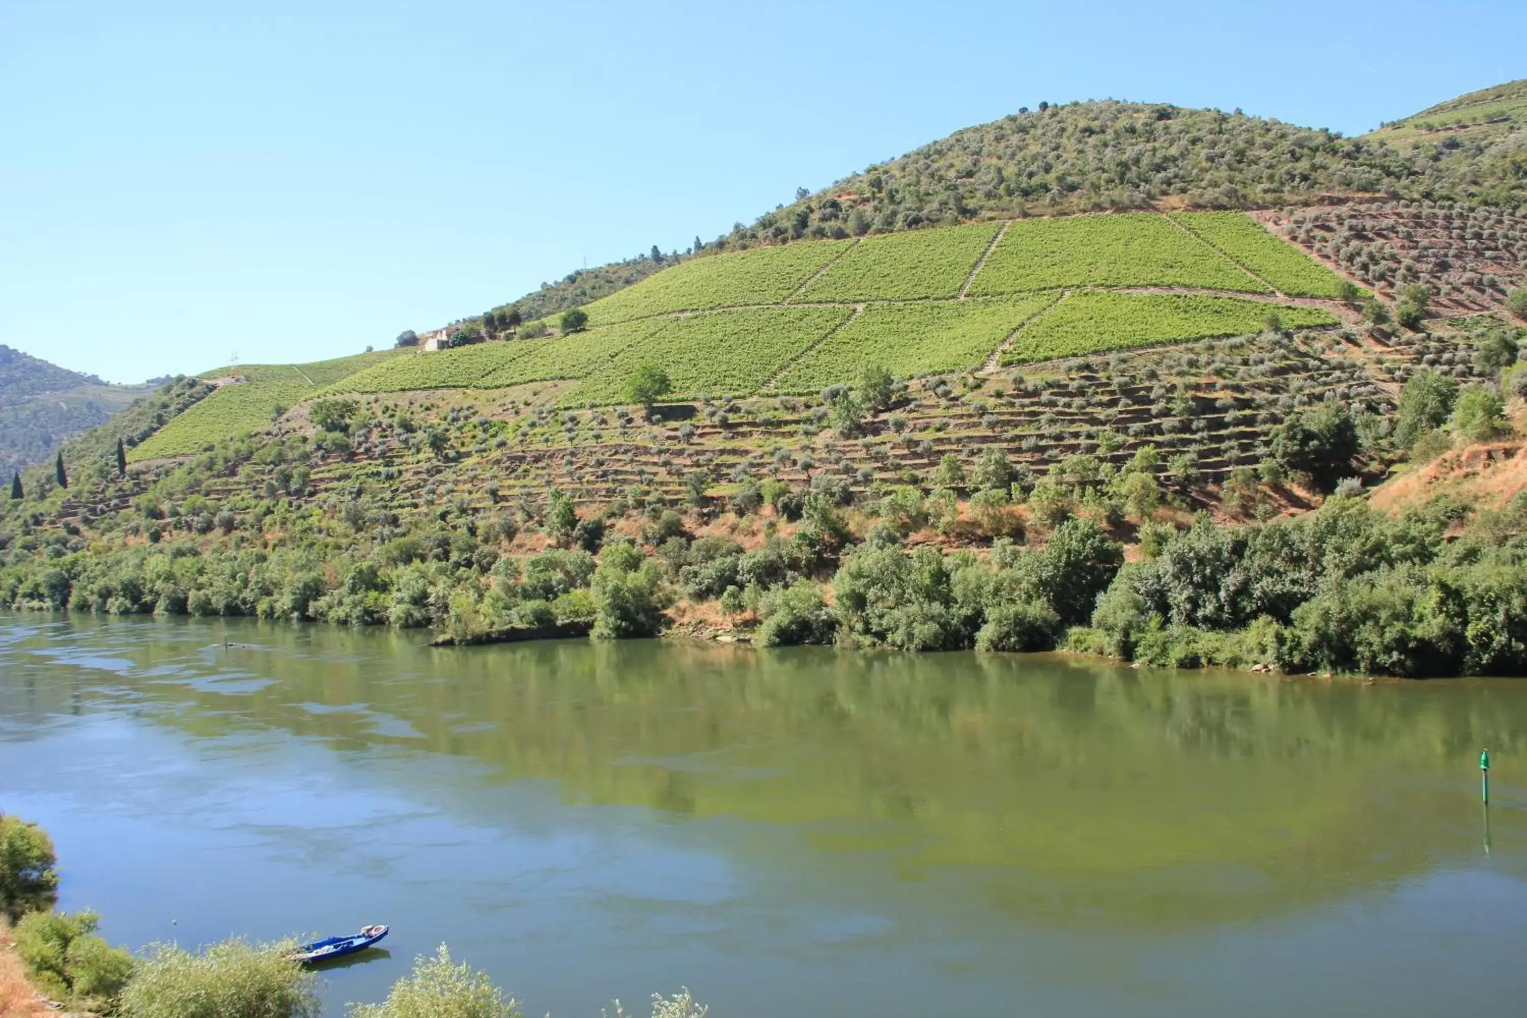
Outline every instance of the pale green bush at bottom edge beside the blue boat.
<path id="1" fill-rule="evenodd" d="M 295 942 L 214 943 L 199 954 L 157 945 L 122 991 L 124 1018 L 312 1018 L 318 978 Z"/>

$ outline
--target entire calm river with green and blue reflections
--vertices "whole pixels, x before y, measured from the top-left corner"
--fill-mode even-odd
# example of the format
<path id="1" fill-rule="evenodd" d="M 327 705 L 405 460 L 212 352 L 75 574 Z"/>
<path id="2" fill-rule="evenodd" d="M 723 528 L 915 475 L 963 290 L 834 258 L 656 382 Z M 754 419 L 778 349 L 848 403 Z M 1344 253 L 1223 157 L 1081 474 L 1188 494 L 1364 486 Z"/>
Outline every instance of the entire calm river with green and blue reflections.
<path id="1" fill-rule="evenodd" d="M 1521 681 L 0 615 L 0 809 L 133 948 L 391 923 L 325 1015 L 1527 1013 Z"/>

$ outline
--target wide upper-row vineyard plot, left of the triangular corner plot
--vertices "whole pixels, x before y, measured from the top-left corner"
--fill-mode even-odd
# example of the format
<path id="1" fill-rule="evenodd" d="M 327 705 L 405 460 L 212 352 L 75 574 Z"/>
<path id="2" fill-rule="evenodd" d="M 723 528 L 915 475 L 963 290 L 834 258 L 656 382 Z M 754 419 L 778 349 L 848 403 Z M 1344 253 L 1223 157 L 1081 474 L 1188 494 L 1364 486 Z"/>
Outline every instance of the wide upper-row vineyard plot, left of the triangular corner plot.
<path id="1" fill-rule="evenodd" d="M 971 293 L 1148 285 L 1270 292 L 1167 217 L 1132 212 L 1014 223 Z"/>

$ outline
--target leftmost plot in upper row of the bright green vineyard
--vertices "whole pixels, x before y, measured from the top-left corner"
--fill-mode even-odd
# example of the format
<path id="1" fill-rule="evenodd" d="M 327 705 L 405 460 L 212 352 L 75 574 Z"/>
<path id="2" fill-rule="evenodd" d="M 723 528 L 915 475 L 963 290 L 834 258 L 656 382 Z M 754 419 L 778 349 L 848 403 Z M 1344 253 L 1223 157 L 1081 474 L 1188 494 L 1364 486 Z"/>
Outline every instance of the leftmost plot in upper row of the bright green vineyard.
<path id="1" fill-rule="evenodd" d="M 693 258 L 588 305 L 589 325 L 670 311 L 779 304 L 854 241 L 814 241 Z M 974 261 L 974 259 L 973 259 Z"/>

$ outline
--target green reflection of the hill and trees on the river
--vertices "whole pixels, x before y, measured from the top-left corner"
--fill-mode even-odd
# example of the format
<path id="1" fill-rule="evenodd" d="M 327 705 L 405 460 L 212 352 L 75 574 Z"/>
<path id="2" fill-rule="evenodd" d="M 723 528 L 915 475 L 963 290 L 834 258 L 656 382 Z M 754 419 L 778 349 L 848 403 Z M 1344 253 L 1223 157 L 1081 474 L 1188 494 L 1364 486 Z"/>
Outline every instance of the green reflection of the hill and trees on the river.
<path id="1" fill-rule="evenodd" d="M 817 850 L 902 876 L 976 867 L 1011 913 L 1110 922 L 1229 919 L 1429 870 L 1474 844 L 1458 762 L 1519 749 L 1527 716 L 1527 687 L 1500 682 L 229 630 L 260 649 L 203 649 L 220 636 L 197 624 L 81 621 L 79 643 L 134 668 L 52 665 L 38 707 L 128 685 L 156 722 L 197 736 L 428 749 L 556 778 L 573 801 L 812 824 Z"/>

